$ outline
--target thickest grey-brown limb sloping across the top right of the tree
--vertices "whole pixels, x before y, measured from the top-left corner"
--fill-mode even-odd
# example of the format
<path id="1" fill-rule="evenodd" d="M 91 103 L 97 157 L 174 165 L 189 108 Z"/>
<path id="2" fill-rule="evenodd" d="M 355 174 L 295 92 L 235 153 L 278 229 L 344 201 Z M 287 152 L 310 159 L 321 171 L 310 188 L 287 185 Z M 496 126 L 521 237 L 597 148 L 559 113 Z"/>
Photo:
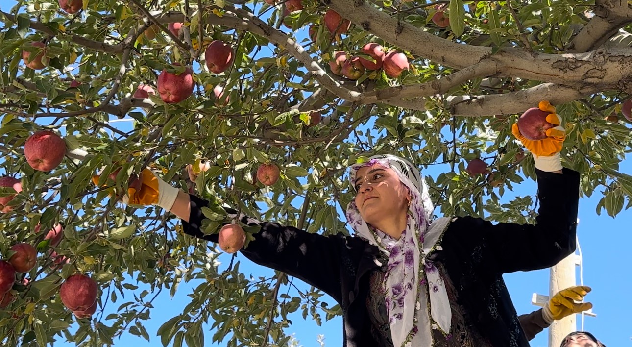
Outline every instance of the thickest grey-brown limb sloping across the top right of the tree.
<path id="1" fill-rule="evenodd" d="M 494 56 L 499 62 L 495 77 L 524 78 L 568 86 L 603 83 L 615 86 L 621 76 L 632 74 L 632 49 L 603 49 L 581 54 L 531 54 L 525 49 L 457 44 L 425 32 L 410 23 L 400 23 L 364 0 L 332 0 L 329 7 L 365 30 L 401 49 L 437 63 L 463 69 Z"/>

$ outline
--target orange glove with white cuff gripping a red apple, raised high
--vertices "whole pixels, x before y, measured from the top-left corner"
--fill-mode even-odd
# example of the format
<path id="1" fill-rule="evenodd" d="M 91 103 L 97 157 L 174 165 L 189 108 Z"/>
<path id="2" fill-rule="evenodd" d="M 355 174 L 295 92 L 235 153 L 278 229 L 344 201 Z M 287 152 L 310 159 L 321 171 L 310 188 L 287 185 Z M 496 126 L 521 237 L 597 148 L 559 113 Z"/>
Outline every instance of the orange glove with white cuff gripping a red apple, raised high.
<path id="1" fill-rule="evenodd" d="M 535 167 L 542 171 L 561 170 L 562 162 L 559 159 L 559 152 L 562 150 L 562 144 L 566 138 L 566 130 L 561 126 L 562 118 L 557 115 L 555 107 L 546 100 L 540 101 L 538 108 L 550 113 L 546 118 L 547 122 L 557 125 L 555 128 L 547 129 L 547 138 L 529 140 L 520 133 L 518 123 L 514 123 L 511 132 L 531 152 Z"/>

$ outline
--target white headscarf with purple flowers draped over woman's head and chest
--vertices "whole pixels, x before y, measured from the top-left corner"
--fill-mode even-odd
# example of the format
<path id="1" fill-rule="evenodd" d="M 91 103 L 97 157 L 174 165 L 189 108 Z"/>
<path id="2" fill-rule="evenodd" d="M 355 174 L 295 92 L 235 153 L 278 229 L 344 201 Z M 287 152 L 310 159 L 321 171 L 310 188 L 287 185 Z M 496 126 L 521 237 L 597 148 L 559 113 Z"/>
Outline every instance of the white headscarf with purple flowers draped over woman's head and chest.
<path id="1" fill-rule="evenodd" d="M 433 346 L 432 329 L 449 334 L 452 310 L 444 281 L 426 258 L 432 251 L 441 250 L 439 241 L 450 219 L 442 217 L 432 221 L 434 205 L 428 187 L 418 169 L 406 159 L 374 155 L 368 162 L 351 166 L 351 181 L 355 181 L 360 167 L 374 164 L 390 167 L 410 191 L 406 230 L 395 240 L 368 226 L 355 200 L 347 207 L 347 219 L 360 238 L 389 256 L 382 288 L 395 347 Z"/>

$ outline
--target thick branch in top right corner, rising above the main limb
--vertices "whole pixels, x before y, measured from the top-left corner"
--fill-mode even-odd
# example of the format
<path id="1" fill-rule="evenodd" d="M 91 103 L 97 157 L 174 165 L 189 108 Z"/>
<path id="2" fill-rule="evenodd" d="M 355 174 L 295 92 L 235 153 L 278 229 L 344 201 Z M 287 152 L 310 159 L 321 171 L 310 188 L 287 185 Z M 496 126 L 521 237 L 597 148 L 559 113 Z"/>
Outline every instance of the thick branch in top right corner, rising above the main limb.
<path id="1" fill-rule="evenodd" d="M 619 28 L 632 23 L 632 10 L 628 8 L 626 0 L 597 0 L 595 3 L 595 16 L 573 38 L 568 52 L 581 53 L 597 49 Z"/>

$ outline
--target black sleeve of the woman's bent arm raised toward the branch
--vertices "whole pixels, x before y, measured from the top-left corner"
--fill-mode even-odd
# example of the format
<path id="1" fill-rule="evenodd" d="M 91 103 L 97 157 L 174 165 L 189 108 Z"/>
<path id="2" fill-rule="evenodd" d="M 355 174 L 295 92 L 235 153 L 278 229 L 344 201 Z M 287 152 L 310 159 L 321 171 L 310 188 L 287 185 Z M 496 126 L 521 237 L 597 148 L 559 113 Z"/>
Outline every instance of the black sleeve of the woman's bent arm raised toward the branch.
<path id="1" fill-rule="evenodd" d="M 536 224 L 496 224 L 458 218 L 456 228 L 483 233 L 497 271 L 531 271 L 557 264 L 576 248 L 580 174 L 571 169 L 547 173 L 536 169 L 540 208 Z"/>

